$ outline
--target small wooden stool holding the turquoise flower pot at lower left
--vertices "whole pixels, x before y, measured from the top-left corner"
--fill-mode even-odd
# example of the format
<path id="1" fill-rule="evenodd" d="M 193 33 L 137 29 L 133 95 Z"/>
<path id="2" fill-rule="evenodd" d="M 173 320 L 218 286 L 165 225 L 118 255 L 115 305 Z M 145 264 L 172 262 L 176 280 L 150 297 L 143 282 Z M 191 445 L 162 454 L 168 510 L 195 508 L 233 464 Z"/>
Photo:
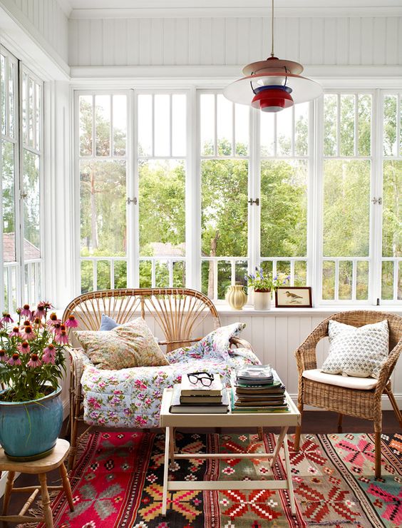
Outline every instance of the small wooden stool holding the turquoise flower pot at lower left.
<path id="1" fill-rule="evenodd" d="M 70 481 L 67 476 L 67 469 L 64 465 L 64 460 L 68 455 L 70 450 L 70 444 L 67 440 L 62 440 L 58 438 L 56 445 L 51 452 L 45 458 L 40 460 L 34 460 L 33 462 L 13 462 L 9 460 L 6 455 L 4 455 L 4 450 L 0 449 L 0 477 L 1 472 L 8 471 L 9 475 L 7 477 L 6 491 L 4 492 L 3 499 L 3 514 L 0 516 L 0 521 L 9 521 L 9 522 L 45 522 L 47 528 L 53 528 L 53 516 L 51 513 L 50 507 L 50 497 L 48 494 L 48 489 L 64 489 L 66 497 L 68 500 L 68 505 L 70 506 L 71 512 L 74 511 L 73 506 L 73 496 L 71 494 Z M 61 479 L 63 482 L 62 486 L 47 486 L 46 484 L 46 473 L 52 471 L 53 469 L 59 468 Z M 14 477 L 16 472 L 19 473 L 29 473 L 37 474 L 40 486 L 29 486 L 29 487 L 13 487 Z M 41 490 L 41 499 L 43 504 L 43 517 L 33 517 L 26 515 L 27 509 L 31 506 L 36 495 Z M 21 512 L 18 515 L 7 515 L 7 509 L 9 508 L 9 502 L 11 493 L 14 492 L 33 492 L 31 497 L 26 501 L 24 507 L 22 507 Z"/>

